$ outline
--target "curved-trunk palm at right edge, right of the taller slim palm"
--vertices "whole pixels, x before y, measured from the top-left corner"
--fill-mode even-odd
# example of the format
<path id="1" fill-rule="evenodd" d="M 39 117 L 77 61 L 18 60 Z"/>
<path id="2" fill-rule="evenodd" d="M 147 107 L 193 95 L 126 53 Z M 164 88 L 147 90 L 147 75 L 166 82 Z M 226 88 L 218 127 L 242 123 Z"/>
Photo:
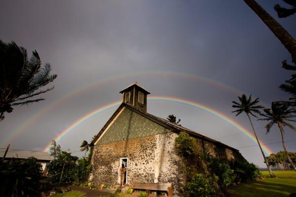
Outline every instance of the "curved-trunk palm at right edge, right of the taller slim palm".
<path id="1" fill-rule="evenodd" d="M 286 144 L 284 140 L 284 129 L 283 129 L 284 126 L 288 126 L 292 130 L 296 131 L 296 128 L 288 122 L 288 121 L 296 121 L 296 120 L 290 119 L 290 118 L 296 117 L 295 115 L 292 115 L 292 113 L 295 113 L 295 110 L 289 109 L 289 106 L 283 105 L 280 102 L 272 102 L 271 109 L 264 109 L 264 112 L 265 114 L 261 114 L 261 116 L 265 118 L 260 118 L 259 120 L 270 121 L 265 126 L 267 131 L 266 133 L 269 133 L 270 128 L 272 127 L 273 124 L 278 125 L 281 132 L 281 136 L 282 136 L 282 143 L 283 143 L 285 154 L 288 158 L 289 163 L 291 164 L 293 169 L 296 171 L 296 166 L 291 160 L 291 158 L 289 157 L 289 154 L 286 148 Z"/>

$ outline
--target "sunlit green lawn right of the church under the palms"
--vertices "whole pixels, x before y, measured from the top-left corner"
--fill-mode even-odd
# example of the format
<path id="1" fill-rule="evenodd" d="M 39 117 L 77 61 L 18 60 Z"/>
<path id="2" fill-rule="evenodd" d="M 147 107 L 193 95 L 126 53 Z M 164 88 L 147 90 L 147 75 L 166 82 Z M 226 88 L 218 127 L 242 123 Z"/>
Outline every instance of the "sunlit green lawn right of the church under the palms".
<path id="1" fill-rule="evenodd" d="M 289 197 L 296 193 L 295 171 L 274 171 L 274 174 L 277 178 L 270 178 L 268 171 L 262 171 L 263 180 L 230 189 L 231 197 Z"/>

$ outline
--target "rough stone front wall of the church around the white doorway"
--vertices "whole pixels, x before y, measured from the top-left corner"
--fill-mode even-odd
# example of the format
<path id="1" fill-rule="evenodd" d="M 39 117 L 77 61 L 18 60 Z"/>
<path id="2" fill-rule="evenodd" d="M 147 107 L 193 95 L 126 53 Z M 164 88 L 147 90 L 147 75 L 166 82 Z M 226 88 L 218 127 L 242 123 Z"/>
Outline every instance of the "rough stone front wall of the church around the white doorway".
<path id="1" fill-rule="evenodd" d="M 174 151 L 177 136 L 169 132 L 94 146 L 90 181 L 97 186 L 118 183 L 120 158 L 128 158 L 127 184 L 170 182 L 178 195 L 183 175 L 181 158 Z"/>

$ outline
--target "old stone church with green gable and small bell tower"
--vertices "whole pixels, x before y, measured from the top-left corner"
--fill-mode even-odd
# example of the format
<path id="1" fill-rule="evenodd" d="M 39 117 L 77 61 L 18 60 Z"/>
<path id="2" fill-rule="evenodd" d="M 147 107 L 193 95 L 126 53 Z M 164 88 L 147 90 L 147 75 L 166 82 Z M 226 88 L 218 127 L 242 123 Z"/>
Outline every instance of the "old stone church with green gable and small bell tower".
<path id="1" fill-rule="evenodd" d="M 182 159 L 174 143 L 180 132 L 195 137 L 213 156 L 242 157 L 238 150 L 177 123 L 147 113 L 147 95 L 137 82 L 122 91 L 122 104 L 91 142 L 89 181 L 97 186 L 119 184 L 119 168 L 127 168 L 124 184 L 172 183 L 174 196 L 183 188 Z M 168 112 L 169 115 L 170 112 Z"/>

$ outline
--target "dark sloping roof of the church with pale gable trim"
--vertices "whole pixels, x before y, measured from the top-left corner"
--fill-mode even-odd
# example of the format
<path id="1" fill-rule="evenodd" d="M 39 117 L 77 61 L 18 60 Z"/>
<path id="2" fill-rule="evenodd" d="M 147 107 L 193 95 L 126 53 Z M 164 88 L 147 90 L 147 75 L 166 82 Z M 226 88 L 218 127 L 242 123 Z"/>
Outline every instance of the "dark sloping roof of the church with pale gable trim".
<path id="1" fill-rule="evenodd" d="M 206 141 L 209 141 L 209 142 L 212 142 L 212 143 L 215 143 L 215 144 L 219 144 L 220 146 L 223 146 L 223 147 L 227 147 L 231 150 L 234 150 L 234 151 L 237 151 L 239 152 L 237 149 L 233 148 L 233 147 L 230 147 L 226 144 L 223 144 L 222 142 L 220 141 L 217 141 L 217 140 L 214 140 L 214 139 L 211 139 L 209 137 L 206 137 L 196 131 L 193 131 L 193 130 L 190 130 L 188 128 L 185 128 L 177 123 L 173 123 L 173 122 L 170 122 L 166 119 L 163 119 L 163 118 L 159 118 L 159 117 L 156 117 L 154 115 L 151 115 L 147 112 L 144 112 L 142 110 L 138 110 L 137 108 L 135 108 L 134 106 L 130 105 L 130 104 L 127 104 L 127 103 L 121 103 L 121 105 L 117 108 L 117 110 L 114 112 L 114 114 L 111 116 L 111 118 L 106 122 L 106 124 L 103 126 L 103 128 L 99 131 L 99 133 L 95 136 L 95 138 L 93 139 L 93 141 L 90 143 L 91 146 L 94 145 L 94 143 L 99 139 L 99 137 L 103 134 L 104 130 L 109 126 L 109 124 L 112 122 L 112 120 L 117 116 L 117 114 L 121 111 L 121 109 L 123 107 L 126 107 L 128 109 L 130 109 L 131 111 L 133 112 L 136 112 L 137 114 L 145 117 L 145 118 L 148 118 L 150 119 L 151 121 L 171 130 L 171 131 L 174 131 L 174 132 L 185 132 L 185 133 L 188 133 L 189 135 L 193 136 L 193 137 L 196 137 L 196 138 L 199 138 L 199 139 L 203 139 L 203 140 L 206 140 Z"/>

